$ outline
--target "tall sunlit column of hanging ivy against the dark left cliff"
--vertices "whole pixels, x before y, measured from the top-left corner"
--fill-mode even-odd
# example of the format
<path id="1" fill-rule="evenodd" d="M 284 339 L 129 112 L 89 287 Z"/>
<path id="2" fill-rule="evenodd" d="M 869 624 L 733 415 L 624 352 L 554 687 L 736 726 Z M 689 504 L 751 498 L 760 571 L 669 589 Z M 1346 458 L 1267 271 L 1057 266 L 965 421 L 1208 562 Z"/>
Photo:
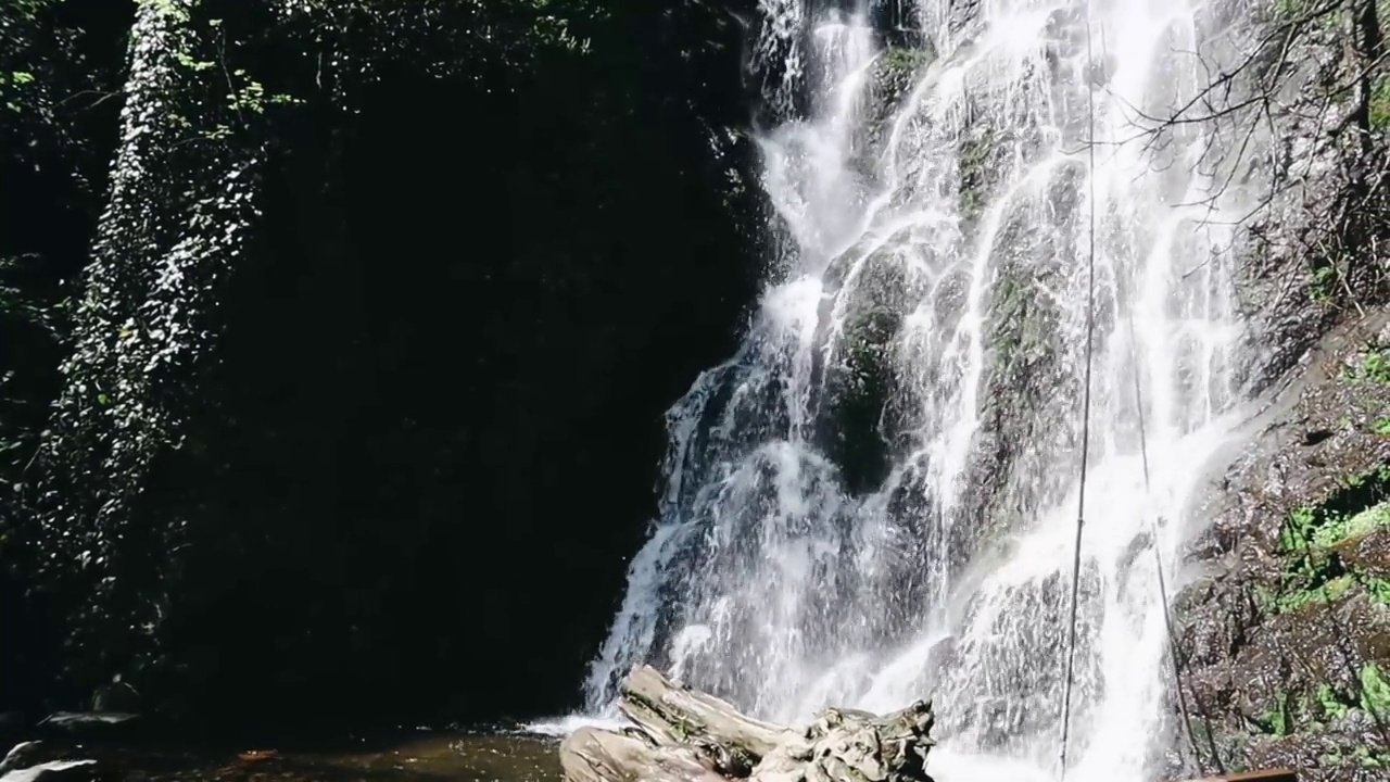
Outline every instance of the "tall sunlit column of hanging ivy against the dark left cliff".
<path id="1" fill-rule="evenodd" d="M 158 653 L 167 552 L 183 525 L 142 513 L 139 500 L 179 442 L 221 282 L 256 217 L 263 127 L 215 100 L 240 86 L 225 68 L 236 42 L 203 11 L 199 0 L 136 6 L 110 195 L 39 456 L 32 536 L 50 551 L 39 575 L 83 594 L 71 643 L 86 654 L 71 673 L 89 686 Z"/>

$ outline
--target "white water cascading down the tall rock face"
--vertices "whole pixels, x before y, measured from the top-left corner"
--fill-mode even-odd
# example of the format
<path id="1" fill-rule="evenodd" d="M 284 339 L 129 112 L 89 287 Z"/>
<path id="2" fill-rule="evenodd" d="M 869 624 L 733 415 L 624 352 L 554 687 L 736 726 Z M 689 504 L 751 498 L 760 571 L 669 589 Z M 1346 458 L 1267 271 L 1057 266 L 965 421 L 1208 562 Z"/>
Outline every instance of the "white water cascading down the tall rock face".
<path id="1" fill-rule="evenodd" d="M 1223 225 L 1258 193 L 1227 184 L 1241 139 L 1141 131 L 1238 36 L 1200 0 L 922 0 L 910 50 L 867 3 L 760 10 L 784 250 L 669 413 L 589 710 L 635 661 L 771 719 L 931 696 L 934 764 L 1055 769 L 1094 259 L 1072 778 L 1143 778 L 1170 692 L 1154 552 L 1177 559 L 1245 413 Z"/>

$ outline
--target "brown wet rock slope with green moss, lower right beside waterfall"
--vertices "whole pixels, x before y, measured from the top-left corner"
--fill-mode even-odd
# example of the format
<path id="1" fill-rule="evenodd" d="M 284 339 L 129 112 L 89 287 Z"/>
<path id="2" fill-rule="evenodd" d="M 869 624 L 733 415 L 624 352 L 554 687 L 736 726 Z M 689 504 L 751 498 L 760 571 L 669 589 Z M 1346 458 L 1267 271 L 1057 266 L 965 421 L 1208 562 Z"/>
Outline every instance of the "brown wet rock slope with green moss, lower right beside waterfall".
<path id="1" fill-rule="evenodd" d="M 1177 597 L 1205 771 L 1390 768 L 1390 313 L 1334 330 L 1229 473 Z"/>

